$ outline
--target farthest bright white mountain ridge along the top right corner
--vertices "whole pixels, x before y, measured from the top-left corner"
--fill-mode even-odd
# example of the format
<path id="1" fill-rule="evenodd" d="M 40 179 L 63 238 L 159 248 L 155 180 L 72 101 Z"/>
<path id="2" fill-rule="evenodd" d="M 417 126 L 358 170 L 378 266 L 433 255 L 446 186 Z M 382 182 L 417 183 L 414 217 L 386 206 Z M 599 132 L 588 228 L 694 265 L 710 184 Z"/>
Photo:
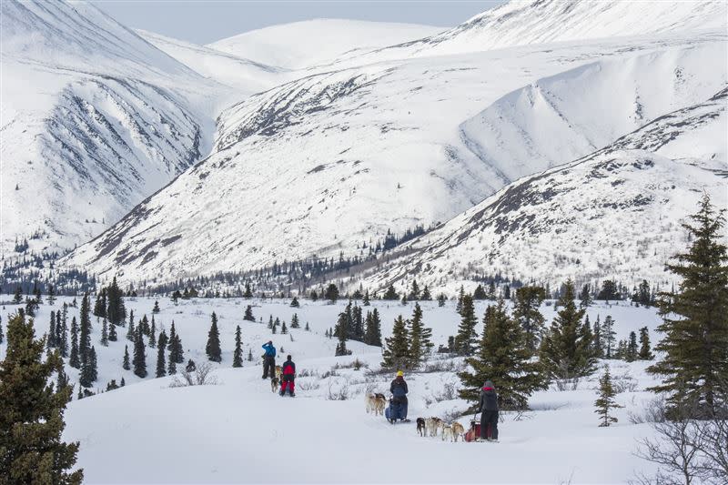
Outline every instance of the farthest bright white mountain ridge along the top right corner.
<path id="1" fill-rule="evenodd" d="M 513 0 L 453 28 L 360 56 L 337 59 L 357 66 L 410 56 L 446 56 L 514 45 L 554 44 L 671 32 L 725 31 L 728 8 L 720 0 L 672 2 L 585 2 L 581 0 Z"/>

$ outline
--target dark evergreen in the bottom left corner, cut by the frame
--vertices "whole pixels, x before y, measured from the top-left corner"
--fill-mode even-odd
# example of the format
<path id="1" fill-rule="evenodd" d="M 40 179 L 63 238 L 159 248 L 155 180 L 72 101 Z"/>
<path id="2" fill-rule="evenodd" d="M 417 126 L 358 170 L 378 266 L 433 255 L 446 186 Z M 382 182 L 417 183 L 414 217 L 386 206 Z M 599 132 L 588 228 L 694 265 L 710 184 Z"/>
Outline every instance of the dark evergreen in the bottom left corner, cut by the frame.
<path id="1" fill-rule="evenodd" d="M 63 369 L 57 352 L 42 360 L 45 341 L 35 340 L 33 320 L 17 314 L 7 325 L 5 360 L 0 362 L 0 481 L 3 483 L 80 484 L 78 443 L 61 435 L 68 386 L 54 390 L 52 374 Z"/>

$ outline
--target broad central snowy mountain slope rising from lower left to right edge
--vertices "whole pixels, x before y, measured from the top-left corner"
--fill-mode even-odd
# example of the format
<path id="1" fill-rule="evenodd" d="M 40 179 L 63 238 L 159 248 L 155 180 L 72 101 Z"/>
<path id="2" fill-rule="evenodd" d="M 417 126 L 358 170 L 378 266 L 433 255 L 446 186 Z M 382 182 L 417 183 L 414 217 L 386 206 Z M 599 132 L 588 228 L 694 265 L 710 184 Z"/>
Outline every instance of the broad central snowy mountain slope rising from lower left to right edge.
<path id="1" fill-rule="evenodd" d="M 463 136 L 463 122 L 513 86 L 571 71 L 562 78 L 587 93 L 633 66 L 623 72 L 629 89 L 610 97 L 631 110 L 623 107 L 602 119 L 589 113 L 606 101 L 583 96 L 581 111 L 572 113 L 563 104 L 564 113 L 575 116 L 574 126 L 600 130 L 601 140 L 610 143 L 634 126 L 622 116 L 637 116 L 641 109 L 657 116 L 712 96 L 726 82 L 725 72 L 695 66 L 701 59 L 717 60 L 724 45 L 724 35 L 669 35 L 651 42 L 417 58 L 308 76 L 228 109 L 218 119 L 213 155 L 64 263 L 105 277 L 167 281 L 314 254 L 359 254 L 364 243 L 376 243 L 389 229 L 401 234 L 447 220 L 551 164 L 544 156 L 505 170 L 473 151 L 477 133 Z M 593 74 L 574 75 L 579 67 Z M 636 91 L 650 92 L 665 81 L 647 74 L 651 69 L 671 78 L 684 72 L 687 84 L 662 96 L 645 95 L 648 107 L 641 108 Z M 553 116 L 552 110 L 528 114 L 530 104 L 520 109 L 524 118 L 543 123 Z M 544 145 L 550 140 L 537 141 L 534 153 L 548 155 Z M 593 148 L 572 151 L 584 156 Z"/>

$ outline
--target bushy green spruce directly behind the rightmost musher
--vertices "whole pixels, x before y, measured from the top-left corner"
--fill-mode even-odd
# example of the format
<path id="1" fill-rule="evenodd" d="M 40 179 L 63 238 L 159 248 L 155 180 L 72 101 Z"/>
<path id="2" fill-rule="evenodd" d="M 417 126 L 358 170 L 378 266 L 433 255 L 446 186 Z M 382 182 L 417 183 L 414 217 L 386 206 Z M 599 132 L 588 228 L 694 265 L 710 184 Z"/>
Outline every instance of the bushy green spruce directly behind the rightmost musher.
<path id="1" fill-rule="evenodd" d="M 521 323 L 509 318 L 505 301 L 486 311 L 480 347 L 475 356 L 465 359 L 472 371 L 458 375 L 464 389 L 460 397 L 478 401 L 480 387 L 486 380 L 498 386 L 498 397 L 504 409 L 525 409 L 536 389 L 546 389 L 541 367 L 531 361 L 533 352 L 526 345 Z"/>

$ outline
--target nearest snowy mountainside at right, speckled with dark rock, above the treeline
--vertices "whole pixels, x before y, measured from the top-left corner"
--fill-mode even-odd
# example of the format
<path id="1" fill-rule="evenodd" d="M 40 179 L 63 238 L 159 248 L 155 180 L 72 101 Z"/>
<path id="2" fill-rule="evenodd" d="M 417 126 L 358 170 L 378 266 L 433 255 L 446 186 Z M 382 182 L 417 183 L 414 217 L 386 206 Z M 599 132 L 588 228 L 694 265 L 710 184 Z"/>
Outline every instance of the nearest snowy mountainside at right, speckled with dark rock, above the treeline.
<path id="1" fill-rule="evenodd" d="M 365 278 L 454 294 L 475 277 L 664 281 L 703 193 L 728 205 L 728 87 L 570 164 L 504 187 Z M 471 289 L 471 288 L 470 288 Z"/>

